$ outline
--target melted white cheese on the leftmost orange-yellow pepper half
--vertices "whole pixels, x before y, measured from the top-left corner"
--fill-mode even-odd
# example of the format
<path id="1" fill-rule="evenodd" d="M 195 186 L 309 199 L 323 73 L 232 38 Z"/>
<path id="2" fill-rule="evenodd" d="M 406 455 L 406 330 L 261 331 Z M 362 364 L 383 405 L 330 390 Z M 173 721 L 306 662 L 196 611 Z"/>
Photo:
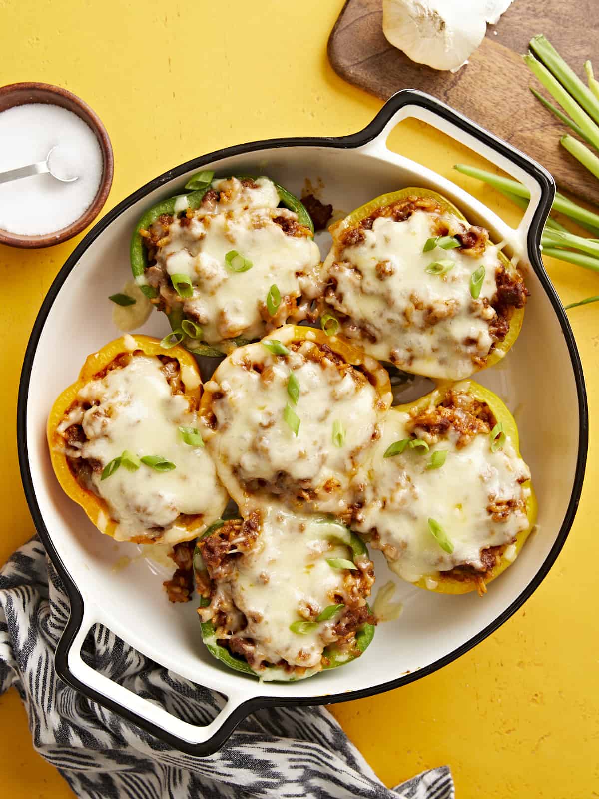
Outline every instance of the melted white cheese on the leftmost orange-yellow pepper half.
<path id="1" fill-rule="evenodd" d="M 127 450 L 138 457 L 161 455 L 176 466 L 173 471 L 143 463 L 137 471 L 121 466 L 105 480 L 101 471 L 93 471 L 93 488 L 118 522 L 115 539 L 155 538 L 153 528 L 160 527 L 166 528 L 161 540 L 173 543 L 185 532 L 177 526 L 180 514 L 203 515 L 205 523 L 219 517 L 227 495 L 212 460 L 203 447 L 185 444 L 177 429 L 196 427 L 196 413 L 184 396 L 173 395 L 158 358 L 135 356 L 127 366 L 86 384 L 77 400 L 93 403 L 81 418 L 88 438 L 81 445 L 82 458 L 105 467 Z"/>

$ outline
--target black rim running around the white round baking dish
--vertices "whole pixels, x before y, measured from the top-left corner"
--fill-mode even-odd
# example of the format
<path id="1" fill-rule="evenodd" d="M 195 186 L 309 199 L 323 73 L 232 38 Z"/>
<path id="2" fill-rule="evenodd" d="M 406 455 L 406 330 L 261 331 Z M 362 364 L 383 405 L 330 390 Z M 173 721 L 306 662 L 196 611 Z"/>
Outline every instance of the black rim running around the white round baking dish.
<path id="1" fill-rule="evenodd" d="M 145 718 L 142 718 L 133 711 L 121 706 L 121 704 L 118 702 L 114 702 L 112 699 L 105 697 L 103 694 L 93 690 L 89 686 L 86 686 L 84 683 L 81 683 L 69 670 L 68 654 L 70 647 L 73 645 L 73 640 L 80 629 L 83 619 L 83 598 L 77 589 L 77 585 L 75 582 L 73 582 L 68 570 L 65 568 L 58 551 L 55 549 L 50 533 L 46 528 L 44 520 L 42 519 L 42 514 L 40 512 L 38 501 L 35 495 L 33 479 L 31 477 L 26 439 L 27 400 L 30 389 L 31 370 L 40 336 L 42 335 L 42 330 L 46 324 L 46 318 L 50 312 L 50 308 L 54 304 L 54 300 L 58 296 L 58 292 L 60 291 L 62 284 L 65 282 L 67 276 L 69 276 L 71 270 L 76 266 L 77 261 L 81 258 L 85 250 L 89 248 L 89 245 L 92 244 L 92 242 L 96 240 L 97 237 L 115 219 L 117 219 L 117 217 L 121 215 L 121 213 L 123 213 L 126 209 L 129 209 L 131 205 L 138 200 L 141 200 L 154 189 L 160 188 L 161 185 L 172 181 L 173 178 L 180 177 L 181 175 L 188 173 L 192 169 L 200 169 L 200 167 L 204 165 L 211 164 L 214 161 L 219 161 L 225 157 L 254 153 L 263 149 L 313 146 L 332 147 L 337 149 L 355 149 L 361 147 L 377 137 L 383 131 L 385 125 L 391 121 L 391 118 L 394 116 L 394 114 L 405 105 L 415 105 L 422 109 L 426 109 L 434 113 L 437 117 L 441 117 L 442 119 L 449 121 L 464 133 L 470 133 L 471 136 L 475 137 L 482 144 L 490 146 L 490 148 L 494 149 L 496 153 L 506 157 L 514 164 L 518 165 L 530 176 L 534 177 L 541 187 L 541 202 L 538 205 L 538 209 L 536 209 L 530 224 L 527 242 L 528 256 L 530 264 L 534 268 L 534 272 L 536 272 L 546 295 L 549 297 L 549 301 L 553 306 L 553 311 L 555 312 L 561 325 L 561 332 L 563 333 L 565 344 L 568 348 L 574 381 L 576 384 L 579 419 L 577 464 L 574 473 L 572 492 L 563 523 L 561 524 L 560 531 L 557 534 L 555 542 L 553 543 L 553 547 L 549 551 L 549 555 L 547 555 L 545 561 L 542 562 L 537 574 L 535 574 L 534 578 L 530 581 L 522 593 L 514 600 L 514 602 L 512 602 L 510 606 L 508 606 L 506 610 L 502 612 L 502 614 L 499 614 L 493 622 L 478 632 L 478 634 L 474 635 L 466 643 L 462 644 L 462 646 L 458 646 L 457 649 L 451 651 L 449 654 L 446 654 L 444 657 L 439 658 L 434 663 L 431 663 L 429 666 L 419 669 L 411 674 L 403 674 L 395 680 L 385 682 L 381 685 L 372 686 L 371 688 L 365 688 L 362 690 L 354 690 L 343 694 L 330 694 L 315 697 L 294 697 L 290 695 L 288 697 L 278 698 L 256 696 L 248 699 L 246 702 L 243 702 L 240 704 L 240 706 L 236 707 L 236 709 L 232 711 L 232 714 L 230 714 L 228 718 L 224 719 L 222 725 L 220 725 L 219 729 L 216 730 L 216 733 L 214 733 L 212 737 L 208 738 L 207 741 L 203 741 L 201 743 L 190 743 L 188 741 L 184 741 L 180 737 L 165 731 L 165 729 L 153 724 L 153 722 L 147 721 Z M 236 726 L 240 723 L 240 721 L 248 716 L 248 714 L 251 714 L 256 710 L 272 706 L 323 705 L 332 704 L 334 702 L 346 702 L 349 699 L 369 697 L 375 694 L 381 694 L 387 690 L 399 688 L 399 686 L 404 686 L 407 685 L 408 682 L 413 682 L 422 677 L 426 677 L 426 675 L 432 674 L 434 671 L 442 668 L 442 666 L 446 666 L 448 663 L 466 653 L 473 646 L 476 646 L 476 644 L 481 642 L 490 633 L 494 632 L 494 630 L 497 630 L 498 627 L 503 624 L 503 622 L 506 622 L 507 619 L 510 618 L 510 616 L 514 614 L 514 612 L 518 610 L 520 606 L 522 606 L 523 602 L 526 602 L 526 599 L 528 599 L 530 595 L 533 594 L 534 590 L 536 590 L 541 584 L 565 542 L 569 529 L 573 523 L 581 494 L 588 446 L 588 414 L 585 382 L 582 375 L 580 358 L 578 356 L 576 344 L 574 343 L 573 334 L 569 327 L 569 322 L 565 315 L 564 308 L 562 307 L 561 302 L 557 297 L 557 293 L 555 292 L 553 285 L 551 284 L 549 277 L 545 272 L 538 247 L 538 243 L 541 240 L 542 228 L 545 223 L 545 217 L 549 213 L 549 209 L 553 201 L 553 193 L 554 185 L 552 178 L 545 171 L 545 169 L 539 167 L 529 157 L 526 157 L 523 153 L 520 153 L 510 145 L 507 145 L 504 141 L 494 137 L 491 133 L 488 133 L 478 125 L 475 125 L 474 122 L 466 119 L 466 117 L 462 117 L 460 114 L 454 112 L 446 105 L 442 104 L 438 100 L 435 100 L 434 97 L 407 89 L 398 92 L 391 97 L 391 99 L 388 100 L 385 105 L 383 105 L 383 108 L 379 111 L 373 121 L 371 121 L 370 125 L 367 125 L 367 127 L 359 131 L 359 133 L 353 133 L 349 136 L 343 137 L 292 137 L 282 139 L 267 139 L 264 141 L 253 141 L 247 144 L 216 150 L 215 152 L 194 158 L 191 161 L 187 161 L 186 163 L 178 166 L 176 169 L 171 169 L 169 172 L 165 172 L 160 177 L 157 177 L 153 181 L 147 183 L 145 186 L 142 186 L 141 189 L 137 190 L 137 192 L 130 194 L 129 197 L 126 197 L 125 200 L 121 201 L 112 211 L 109 211 L 109 213 L 107 213 L 106 216 L 103 217 L 101 221 L 99 221 L 97 225 L 95 225 L 93 229 L 89 231 L 85 238 L 81 240 L 81 243 L 77 245 L 77 248 L 74 249 L 73 253 L 65 261 L 65 264 L 61 268 L 60 272 L 58 272 L 54 283 L 50 287 L 50 291 L 46 295 L 46 298 L 42 304 L 42 308 L 38 313 L 38 318 L 35 321 L 34 328 L 30 336 L 30 341 L 27 346 L 18 394 L 18 454 L 26 499 L 29 503 L 30 511 L 34 518 L 34 523 L 38 530 L 38 534 L 40 535 L 40 538 L 42 539 L 42 542 L 46 547 L 46 551 L 48 552 L 48 555 L 50 555 L 50 559 L 54 563 L 58 574 L 60 574 L 65 584 L 65 589 L 69 595 L 71 604 L 69 622 L 67 623 L 61 636 L 61 640 L 58 643 L 54 661 L 56 670 L 60 677 L 70 686 L 79 690 L 82 694 L 85 694 L 85 696 L 91 699 L 93 702 L 98 702 L 100 705 L 109 708 L 109 710 L 113 710 L 115 713 L 121 715 L 121 717 L 133 722 L 133 724 L 137 725 L 141 729 L 145 729 L 145 731 L 153 734 L 161 741 L 172 745 L 176 749 L 180 749 L 181 751 L 192 755 L 208 755 L 219 749 L 236 728 Z M 290 685 L 289 687 L 290 690 L 292 690 L 292 686 Z"/>

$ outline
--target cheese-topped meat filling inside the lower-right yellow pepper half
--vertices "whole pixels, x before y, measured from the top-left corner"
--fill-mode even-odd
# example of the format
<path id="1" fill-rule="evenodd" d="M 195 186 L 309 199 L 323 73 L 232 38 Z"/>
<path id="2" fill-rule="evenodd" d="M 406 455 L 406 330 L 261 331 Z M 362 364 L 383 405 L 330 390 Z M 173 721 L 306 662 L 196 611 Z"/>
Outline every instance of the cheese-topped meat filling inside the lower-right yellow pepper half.
<path id="1" fill-rule="evenodd" d="M 438 406 L 390 411 L 355 481 L 352 527 L 400 577 L 441 572 L 480 583 L 502 555 L 515 556 L 516 536 L 529 527 L 522 484 L 530 471 L 495 424 L 490 408 L 459 388 Z"/>

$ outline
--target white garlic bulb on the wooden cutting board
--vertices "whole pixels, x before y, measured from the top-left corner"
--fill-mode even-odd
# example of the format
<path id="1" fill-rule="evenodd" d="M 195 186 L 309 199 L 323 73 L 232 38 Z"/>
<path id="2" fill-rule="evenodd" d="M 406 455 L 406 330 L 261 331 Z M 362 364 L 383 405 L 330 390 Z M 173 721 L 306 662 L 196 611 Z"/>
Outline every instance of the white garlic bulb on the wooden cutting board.
<path id="1" fill-rule="evenodd" d="M 419 64 L 455 72 L 511 0 L 383 0 L 383 33 Z"/>

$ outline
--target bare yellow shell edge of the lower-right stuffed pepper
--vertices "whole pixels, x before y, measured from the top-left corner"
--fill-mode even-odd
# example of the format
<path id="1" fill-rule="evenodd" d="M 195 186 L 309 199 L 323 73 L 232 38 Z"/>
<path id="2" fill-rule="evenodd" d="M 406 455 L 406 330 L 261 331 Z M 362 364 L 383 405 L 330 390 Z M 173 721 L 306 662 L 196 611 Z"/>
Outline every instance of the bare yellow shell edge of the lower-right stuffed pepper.
<path id="1" fill-rule="evenodd" d="M 442 403 L 442 400 L 449 388 L 454 388 L 456 391 L 460 392 L 467 392 L 471 396 L 474 396 L 474 398 L 479 402 L 486 404 L 486 406 L 489 407 L 490 411 L 493 413 L 495 420 L 502 423 L 503 432 L 506 434 L 506 439 L 510 441 L 518 457 L 521 457 L 518 441 L 518 427 L 516 426 L 514 416 L 511 415 L 510 411 L 508 411 L 506 405 L 502 402 L 502 400 L 499 399 L 497 394 L 494 394 L 494 392 L 491 392 L 488 388 L 475 383 L 474 380 L 460 380 L 458 383 L 438 384 L 434 391 L 426 394 L 419 400 L 416 400 L 414 403 L 407 403 L 405 405 L 398 405 L 394 407 L 391 410 L 391 413 L 394 411 L 409 412 L 421 409 L 423 410 L 426 407 L 430 407 L 430 405 L 439 405 Z M 537 519 L 537 499 L 534 495 L 534 489 L 530 480 L 526 480 L 526 483 L 522 483 L 522 488 L 525 490 L 530 489 L 530 494 L 526 498 L 526 518 L 528 519 L 529 526 L 526 528 L 526 530 L 522 530 L 516 536 L 516 540 L 514 542 L 516 553 L 513 559 L 507 560 L 505 558 L 504 553 L 507 547 L 510 546 L 509 544 L 505 544 L 504 547 L 502 547 L 502 556 L 497 565 L 480 577 L 475 577 L 473 575 L 472 578 L 468 578 L 466 576 L 462 578 L 456 578 L 452 574 L 447 574 L 442 571 L 435 571 L 432 574 L 425 574 L 419 579 L 418 582 L 415 582 L 415 585 L 419 586 L 419 588 L 436 591 L 438 594 L 467 594 L 473 590 L 478 590 L 479 594 L 484 594 L 486 592 L 486 585 L 498 577 L 499 574 L 502 574 L 502 572 L 505 571 L 506 568 L 510 566 L 510 564 L 518 557 L 522 547 L 524 546 L 524 543 L 526 542 L 526 539 L 529 537 L 534 528 L 534 523 Z M 426 585 L 427 580 L 429 583 L 430 580 L 433 580 L 437 583 L 437 586 L 434 588 L 429 588 Z"/>

